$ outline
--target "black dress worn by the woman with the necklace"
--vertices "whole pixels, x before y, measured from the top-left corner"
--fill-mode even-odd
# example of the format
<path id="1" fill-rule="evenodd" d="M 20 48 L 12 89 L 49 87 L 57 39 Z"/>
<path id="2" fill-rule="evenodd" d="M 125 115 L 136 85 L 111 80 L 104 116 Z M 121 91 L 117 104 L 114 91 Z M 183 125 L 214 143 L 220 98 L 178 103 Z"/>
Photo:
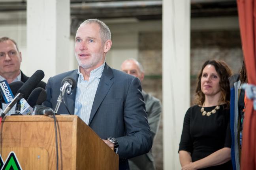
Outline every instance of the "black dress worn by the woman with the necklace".
<path id="1" fill-rule="evenodd" d="M 224 147 L 231 148 L 230 109 L 220 105 L 215 114 L 203 116 L 198 105 L 190 107 L 186 112 L 181 135 L 179 151 L 191 153 L 192 161 L 207 157 L 211 153 Z M 204 107 L 205 111 L 215 108 Z M 232 170 L 232 163 L 204 168 L 205 170 Z"/>

